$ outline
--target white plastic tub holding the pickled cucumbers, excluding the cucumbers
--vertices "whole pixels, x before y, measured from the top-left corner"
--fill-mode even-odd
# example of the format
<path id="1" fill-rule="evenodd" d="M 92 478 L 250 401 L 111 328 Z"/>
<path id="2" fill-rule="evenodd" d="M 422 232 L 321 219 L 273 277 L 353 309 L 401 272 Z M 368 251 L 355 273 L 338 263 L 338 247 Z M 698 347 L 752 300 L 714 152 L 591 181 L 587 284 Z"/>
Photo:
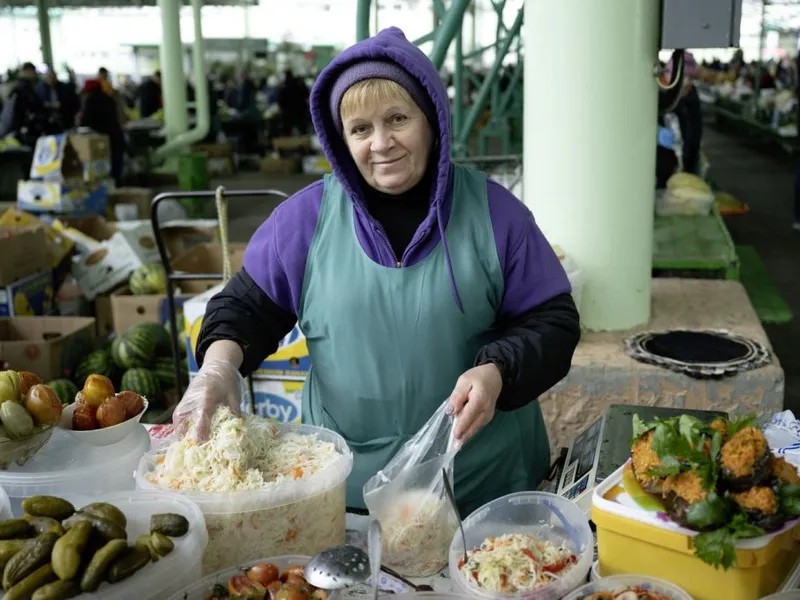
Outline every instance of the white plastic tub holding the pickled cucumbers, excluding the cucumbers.
<path id="1" fill-rule="evenodd" d="M 103 583 L 91 594 L 76 600 L 163 600 L 202 576 L 201 561 L 208 542 L 205 521 L 200 508 L 179 494 L 164 492 L 117 492 L 92 496 L 66 496 L 77 508 L 91 502 L 110 502 L 128 519 L 128 542 L 150 531 L 150 516 L 158 513 L 183 515 L 189 521 L 189 532 L 171 538 L 175 549 L 161 560 L 150 563 L 129 579 L 115 584 Z"/>

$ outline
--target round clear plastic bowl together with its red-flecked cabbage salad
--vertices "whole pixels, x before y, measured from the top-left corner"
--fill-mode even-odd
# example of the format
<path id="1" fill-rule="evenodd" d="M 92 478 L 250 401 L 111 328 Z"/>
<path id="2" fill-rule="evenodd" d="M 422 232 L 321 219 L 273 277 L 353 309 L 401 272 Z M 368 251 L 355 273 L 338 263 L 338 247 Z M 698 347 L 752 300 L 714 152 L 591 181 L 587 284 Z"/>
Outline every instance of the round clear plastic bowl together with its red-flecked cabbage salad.
<path id="1" fill-rule="evenodd" d="M 464 521 L 450 543 L 456 593 L 484 599 L 558 600 L 586 581 L 594 541 L 573 502 L 546 492 L 493 500 Z"/>

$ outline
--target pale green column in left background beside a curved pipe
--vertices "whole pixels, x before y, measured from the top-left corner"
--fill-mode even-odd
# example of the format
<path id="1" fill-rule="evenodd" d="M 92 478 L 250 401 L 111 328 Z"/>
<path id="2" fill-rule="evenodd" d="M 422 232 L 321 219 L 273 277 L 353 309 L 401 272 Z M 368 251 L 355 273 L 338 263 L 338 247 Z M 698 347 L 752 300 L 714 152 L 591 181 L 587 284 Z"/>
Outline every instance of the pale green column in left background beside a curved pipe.
<path id="1" fill-rule="evenodd" d="M 167 141 L 189 129 L 181 41 L 181 4 L 176 0 L 158 0 L 161 13 L 161 93 L 164 98 Z"/>

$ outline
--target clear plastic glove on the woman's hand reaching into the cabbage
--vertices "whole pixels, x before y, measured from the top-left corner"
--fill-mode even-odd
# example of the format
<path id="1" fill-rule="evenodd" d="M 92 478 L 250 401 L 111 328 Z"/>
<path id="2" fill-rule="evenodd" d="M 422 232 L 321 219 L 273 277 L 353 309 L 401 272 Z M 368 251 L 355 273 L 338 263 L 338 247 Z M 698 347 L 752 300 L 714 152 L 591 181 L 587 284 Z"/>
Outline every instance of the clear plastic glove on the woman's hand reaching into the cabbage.
<path id="1" fill-rule="evenodd" d="M 183 437 L 194 427 L 195 439 L 207 440 L 211 417 L 218 406 L 227 406 L 239 414 L 244 385 L 244 378 L 233 363 L 205 360 L 172 414 L 175 432 Z"/>

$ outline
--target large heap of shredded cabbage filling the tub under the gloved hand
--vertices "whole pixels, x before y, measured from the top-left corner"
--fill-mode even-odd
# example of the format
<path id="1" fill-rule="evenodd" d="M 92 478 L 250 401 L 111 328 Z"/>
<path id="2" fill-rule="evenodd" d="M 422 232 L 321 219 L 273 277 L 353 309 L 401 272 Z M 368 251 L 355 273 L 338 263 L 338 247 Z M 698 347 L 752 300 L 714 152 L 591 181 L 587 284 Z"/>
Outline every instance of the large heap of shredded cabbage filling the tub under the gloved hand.
<path id="1" fill-rule="evenodd" d="M 186 493 L 203 509 L 203 571 L 211 573 L 344 543 L 344 480 L 327 487 L 302 481 L 341 460 L 336 446 L 316 435 L 282 433 L 262 417 L 221 407 L 207 442 L 197 444 L 191 432 L 176 440 L 155 456 L 145 479 Z"/>

